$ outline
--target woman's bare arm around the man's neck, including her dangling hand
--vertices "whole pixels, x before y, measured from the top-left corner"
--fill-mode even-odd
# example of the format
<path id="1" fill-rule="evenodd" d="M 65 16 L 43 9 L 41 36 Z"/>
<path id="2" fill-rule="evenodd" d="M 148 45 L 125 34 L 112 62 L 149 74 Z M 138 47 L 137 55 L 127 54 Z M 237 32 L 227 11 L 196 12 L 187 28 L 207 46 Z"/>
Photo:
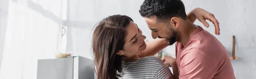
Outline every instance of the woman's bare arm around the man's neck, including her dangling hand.
<path id="1" fill-rule="evenodd" d="M 218 20 L 213 16 L 212 13 L 209 13 L 208 11 L 205 11 L 202 8 L 195 8 L 192 11 L 190 11 L 187 14 L 189 20 L 191 22 L 195 22 L 195 20 L 198 18 L 198 20 L 203 23 L 206 27 L 209 27 L 209 24 L 205 21 L 210 20 L 215 25 L 215 34 L 219 35 L 219 23 Z M 147 47 L 144 51 L 141 51 L 138 55 L 140 58 L 145 56 L 153 56 L 157 54 L 157 52 L 163 50 L 163 48 L 166 48 L 168 46 L 167 42 L 163 39 L 156 39 L 152 42 L 147 43 Z"/>

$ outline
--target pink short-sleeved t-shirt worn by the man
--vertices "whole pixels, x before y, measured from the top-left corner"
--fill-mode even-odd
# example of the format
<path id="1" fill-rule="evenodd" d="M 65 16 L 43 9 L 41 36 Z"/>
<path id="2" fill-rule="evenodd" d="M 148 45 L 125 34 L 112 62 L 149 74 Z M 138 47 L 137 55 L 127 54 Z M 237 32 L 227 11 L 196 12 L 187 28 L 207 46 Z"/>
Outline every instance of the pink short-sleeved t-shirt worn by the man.
<path id="1" fill-rule="evenodd" d="M 236 79 L 227 50 L 202 27 L 175 49 L 180 79 Z"/>

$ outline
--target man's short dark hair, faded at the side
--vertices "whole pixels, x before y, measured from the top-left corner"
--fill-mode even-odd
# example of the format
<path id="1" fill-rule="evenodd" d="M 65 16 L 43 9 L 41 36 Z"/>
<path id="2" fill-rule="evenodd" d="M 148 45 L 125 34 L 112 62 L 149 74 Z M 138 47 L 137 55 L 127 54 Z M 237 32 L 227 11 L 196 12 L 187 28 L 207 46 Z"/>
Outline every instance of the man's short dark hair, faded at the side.
<path id="1" fill-rule="evenodd" d="M 140 6 L 142 17 L 155 15 L 157 21 L 167 21 L 172 17 L 187 19 L 185 7 L 181 0 L 145 0 Z"/>

